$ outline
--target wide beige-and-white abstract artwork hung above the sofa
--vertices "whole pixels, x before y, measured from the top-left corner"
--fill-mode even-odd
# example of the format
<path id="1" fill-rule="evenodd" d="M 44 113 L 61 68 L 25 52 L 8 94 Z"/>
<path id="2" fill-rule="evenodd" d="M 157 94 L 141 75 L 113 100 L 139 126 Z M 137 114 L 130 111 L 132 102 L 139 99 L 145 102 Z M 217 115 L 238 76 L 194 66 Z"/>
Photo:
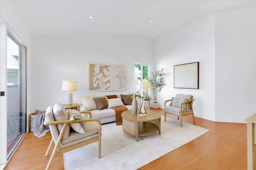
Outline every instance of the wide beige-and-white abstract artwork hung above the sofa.
<path id="1" fill-rule="evenodd" d="M 88 63 L 89 91 L 126 90 L 127 67 L 123 65 Z"/>

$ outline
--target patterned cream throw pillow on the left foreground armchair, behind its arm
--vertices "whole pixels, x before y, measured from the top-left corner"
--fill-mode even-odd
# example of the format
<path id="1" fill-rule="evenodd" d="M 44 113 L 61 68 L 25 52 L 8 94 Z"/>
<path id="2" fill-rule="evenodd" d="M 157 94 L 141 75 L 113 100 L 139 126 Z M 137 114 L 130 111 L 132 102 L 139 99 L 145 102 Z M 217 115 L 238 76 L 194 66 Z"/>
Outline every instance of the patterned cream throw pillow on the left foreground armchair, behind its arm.
<path id="1" fill-rule="evenodd" d="M 79 111 L 76 109 L 68 109 L 68 116 L 69 120 L 80 120 L 84 119 L 84 117 L 81 115 Z M 74 131 L 78 133 L 85 133 L 86 129 L 86 122 L 80 122 L 80 123 L 70 123 L 70 126 L 74 129 Z"/>

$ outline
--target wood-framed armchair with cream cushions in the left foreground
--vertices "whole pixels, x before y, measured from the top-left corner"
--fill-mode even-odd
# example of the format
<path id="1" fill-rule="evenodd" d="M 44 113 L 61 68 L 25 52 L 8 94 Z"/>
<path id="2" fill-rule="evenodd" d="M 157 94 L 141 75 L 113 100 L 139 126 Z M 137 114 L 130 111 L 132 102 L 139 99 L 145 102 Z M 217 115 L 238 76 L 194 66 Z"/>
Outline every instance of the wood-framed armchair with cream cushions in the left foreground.
<path id="1" fill-rule="evenodd" d="M 63 108 L 62 108 L 63 109 Z M 66 111 L 64 109 L 64 111 Z M 55 154 L 63 154 L 70 150 L 74 150 L 90 143 L 98 141 L 98 156 L 100 158 L 101 153 L 101 122 L 100 119 L 91 119 L 92 114 L 89 111 L 80 111 L 80 113 L 87 113 L 90 115 L 90 119 L 79 120 L 59 120 L 56 121 L 56 116 L 53 115 L 52 106 L 47 107 L 45 113 L 44 125 L 49 125 L 52 140 L 46 151 L 45 156 L 48 156 L 52 144 L 55 143 L 55 147 L 50 156 L 50 160 L 47 164 L 46 170 L 50 168 L 50 164 Z M 86 122 L 85 133 L 78 133 L 70 128 L 70 123 Z"/>

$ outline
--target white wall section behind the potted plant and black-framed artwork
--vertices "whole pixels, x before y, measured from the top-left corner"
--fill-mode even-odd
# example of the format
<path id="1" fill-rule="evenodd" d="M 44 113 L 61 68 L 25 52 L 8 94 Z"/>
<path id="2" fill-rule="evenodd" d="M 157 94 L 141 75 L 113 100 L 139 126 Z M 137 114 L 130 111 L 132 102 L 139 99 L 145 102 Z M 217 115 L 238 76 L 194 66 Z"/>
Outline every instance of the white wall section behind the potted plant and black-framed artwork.
<path id="1" fill-rule="evenodd" d="M 158 95 L 158 103 L 175 94 L 192 94 L 197 117 L 215 120 L 215 33 L 214 14 L 195 21 L 155 41 L 155 68 L 165 68 L 166 85 Z M 199 62 L 199 89 L 173 87 L 174 65 Z"/>

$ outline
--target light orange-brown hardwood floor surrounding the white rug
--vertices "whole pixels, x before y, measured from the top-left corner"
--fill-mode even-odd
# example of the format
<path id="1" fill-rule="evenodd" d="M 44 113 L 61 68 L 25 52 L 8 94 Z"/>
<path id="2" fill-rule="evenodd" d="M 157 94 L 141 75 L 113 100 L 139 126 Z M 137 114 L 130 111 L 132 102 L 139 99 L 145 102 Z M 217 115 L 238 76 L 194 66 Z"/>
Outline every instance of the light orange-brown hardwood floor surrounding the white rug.
<path id="1" fill-rule="evenodd" d="M 152 108 L 151 108 L 152 109 Z M 164 115 L 163 109 L 152 109 Z M 176 119 L 173 115 L 168 117 Z M 184 122 L 193 124 L 191 116 L 183 117 Z M 196 117 L 195 125 L 210 131 L 190 143 L 150 162 L 140 170 L 246 170 L 247 136 L 245 123 L 222 123 Z M 29 132 L 11 160 L 6 170 L 44 170 L 49 160 L 44 157 L 51 135 L 34 137 Z M 51 153 L 51 152 L 50 152 Z M 254 146 L 254 169 L 256 170 L 256 147 Z M 63 156 L 55 156 L 52 170 L 63 170 Z"/>

